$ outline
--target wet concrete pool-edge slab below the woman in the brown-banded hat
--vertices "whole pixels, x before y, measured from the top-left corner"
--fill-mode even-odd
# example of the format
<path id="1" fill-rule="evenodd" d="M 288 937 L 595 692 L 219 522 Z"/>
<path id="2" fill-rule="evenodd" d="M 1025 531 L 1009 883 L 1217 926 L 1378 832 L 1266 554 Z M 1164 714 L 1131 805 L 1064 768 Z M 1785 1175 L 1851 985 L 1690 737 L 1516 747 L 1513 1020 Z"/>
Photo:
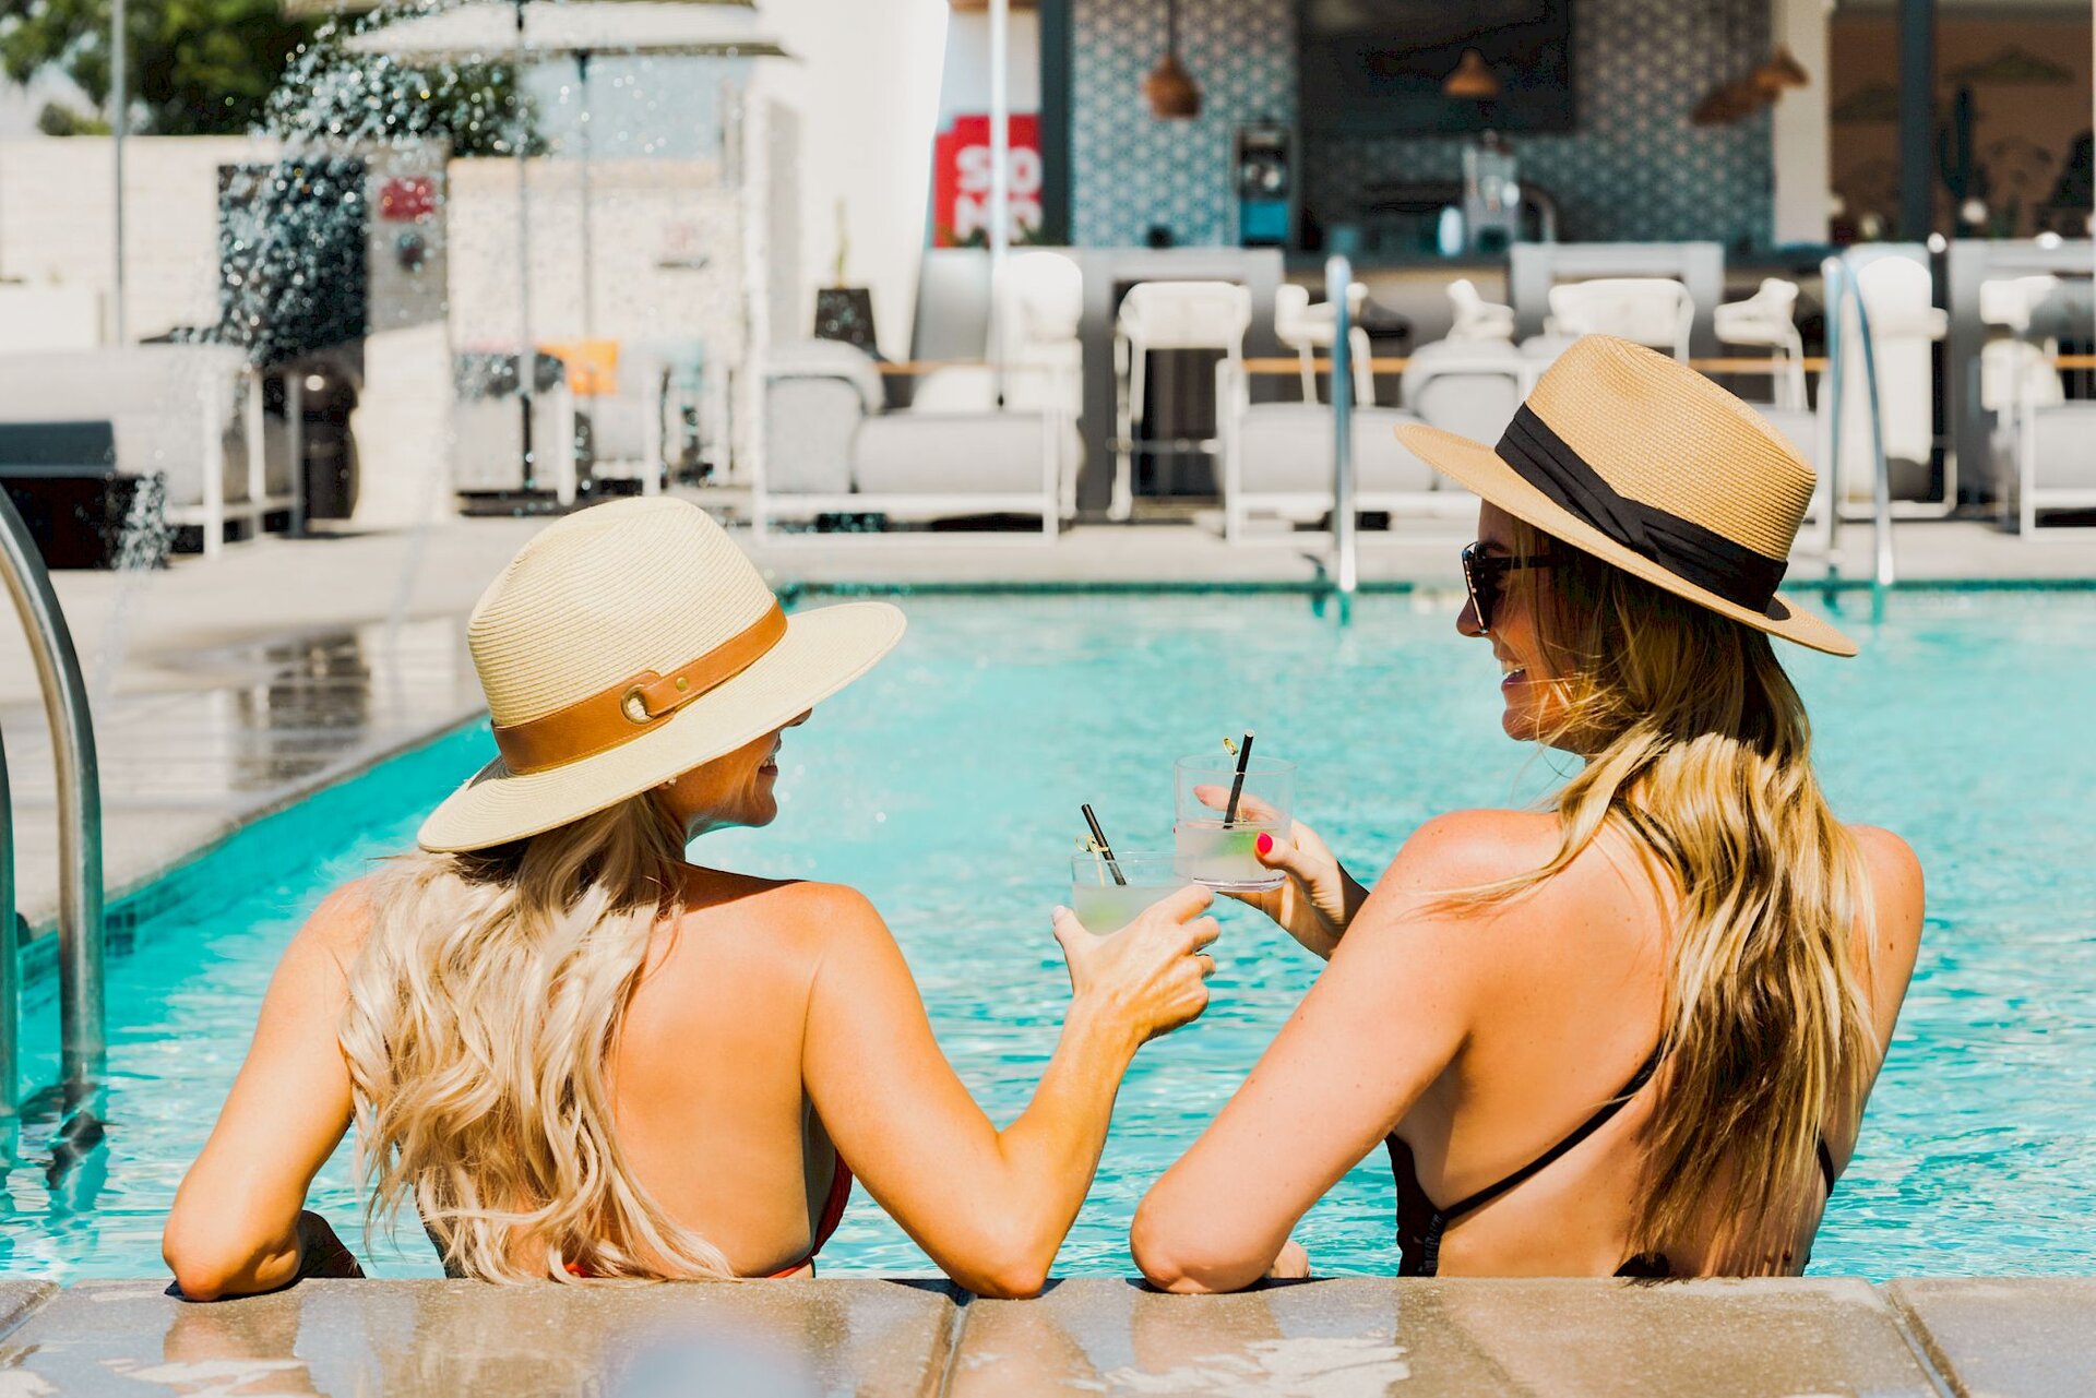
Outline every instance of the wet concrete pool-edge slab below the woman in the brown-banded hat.
<path id="1" fill-rule="evenodd" d="M 59 1293 L 0 1341 L 0 1394 L 918 1398 L 937 1392 L 956 1314 L 943 1289 L 887 1281 L 321 1281 L 212 1306 L 161 1287 Z"/>

